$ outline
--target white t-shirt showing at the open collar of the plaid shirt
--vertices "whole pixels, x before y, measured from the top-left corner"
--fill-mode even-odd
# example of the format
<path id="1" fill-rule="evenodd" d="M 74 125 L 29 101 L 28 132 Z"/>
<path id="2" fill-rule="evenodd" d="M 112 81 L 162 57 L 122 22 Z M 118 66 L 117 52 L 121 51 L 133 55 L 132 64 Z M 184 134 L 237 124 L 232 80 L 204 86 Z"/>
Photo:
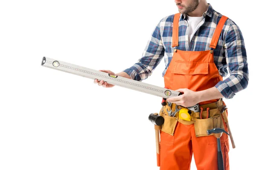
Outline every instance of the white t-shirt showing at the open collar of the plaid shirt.
<path id="1" fill-rule="evenodd" d="M 190 17 L 186 15 L 186 18 L 189 23 L 189 33 L 188 33 L 188 38 L 189 38 L 189 43 L 190 40 L 192 39 L 193 35 L 195 34 L 195 31 L 198 30 L 198 27 L 200 26 L 199 23 L 204 19 L 204 17 Z"/>

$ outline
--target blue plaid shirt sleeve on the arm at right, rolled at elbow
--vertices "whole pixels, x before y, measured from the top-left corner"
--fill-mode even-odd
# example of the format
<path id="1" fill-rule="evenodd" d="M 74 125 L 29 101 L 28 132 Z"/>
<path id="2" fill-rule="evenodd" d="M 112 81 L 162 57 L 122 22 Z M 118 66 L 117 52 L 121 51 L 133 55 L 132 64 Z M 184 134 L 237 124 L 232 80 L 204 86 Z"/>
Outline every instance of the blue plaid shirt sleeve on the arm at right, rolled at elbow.
<path id="1" fill-rule="evenodd" d="M 226 99 L 231 99 L 237 92 L 245 89 L 249 81 L 244 38 L 239 27 L 233 22 L 227 31 L 224 52 L 230 76 L 218 82 L 215 87 Z"/>

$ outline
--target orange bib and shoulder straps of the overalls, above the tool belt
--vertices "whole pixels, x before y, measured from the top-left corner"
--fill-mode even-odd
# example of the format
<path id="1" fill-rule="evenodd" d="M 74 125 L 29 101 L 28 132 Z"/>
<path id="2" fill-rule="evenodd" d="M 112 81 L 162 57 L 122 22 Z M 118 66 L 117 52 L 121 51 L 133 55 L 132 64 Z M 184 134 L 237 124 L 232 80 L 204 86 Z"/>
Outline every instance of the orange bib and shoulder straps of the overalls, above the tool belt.
<path id="1" fill-rule="evenodd" d="M 178 44 L 178 26 L 180 13 L 175 14 L 174 28 L 172 37 L 175 44 Z M 221 17 L 217 25 L 215 33 L 212 37 L 213 46 L 217 45 L 220 28 L 224 26 L 227 17 Z M 217 41 L 215 41 L 217 40 Z M 222 77 L 219 75 L 218 69 L 213 60 L 213 52 L 207 51 L 181 51 L 174 52 L 172 61 L 167 68 L 164 76 L 165 88 L 177 90 L 179 88 L 188 88 L 192 91 L 202 91 L 214 87 Z M 211 102 L 216 102 L 218 99 L 200 102 L 199 105 L 204 105 Z"/>

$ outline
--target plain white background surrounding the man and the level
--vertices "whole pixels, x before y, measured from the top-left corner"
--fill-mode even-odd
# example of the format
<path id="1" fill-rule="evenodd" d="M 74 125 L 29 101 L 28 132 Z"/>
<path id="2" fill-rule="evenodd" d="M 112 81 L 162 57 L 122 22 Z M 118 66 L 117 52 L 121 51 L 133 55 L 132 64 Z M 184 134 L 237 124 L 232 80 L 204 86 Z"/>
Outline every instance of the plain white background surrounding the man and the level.
<path id="1" fill-rule="evenodd" d="M 0 170 L 158 170 L 150 113 L 162 99 L 42 67 L 43 57 L 117 73 L 143 53 L 174 0 L 0 1 Z M 250 81 L 229 108 L 230 169 L 255 169 L 255 28 L 240 0 L 208 0 L 240 27 Z M 163 60 L 144 82 L 163 87 Z M 249 99 L 250 98 L 250 99 Z M 206 158 L 208 159 L 208 158 Z M 172 160 L 170 160 L 170 163 Z M 195 170 L 192 160 L 191 170 Z"/>

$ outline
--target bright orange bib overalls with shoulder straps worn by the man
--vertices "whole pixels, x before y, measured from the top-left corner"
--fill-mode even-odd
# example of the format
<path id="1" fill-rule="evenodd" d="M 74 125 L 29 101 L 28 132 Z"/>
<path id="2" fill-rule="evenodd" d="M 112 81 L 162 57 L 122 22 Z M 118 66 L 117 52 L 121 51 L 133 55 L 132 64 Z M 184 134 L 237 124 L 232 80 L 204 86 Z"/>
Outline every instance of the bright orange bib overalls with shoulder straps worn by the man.
<path id="1" fill-rule="evenodd" d="M 178 46 L 180 13 L 175 14 L 172 32 L 172 47 Z M 227 17 L 222 16 L 213 34 L 210 48 L 215 49 Z M 188 88 L 202 91 L 214 87 L 222 77 L 213 60 L 213 50 L 180 51 L 175 49 L 172 61 L 164 75 L 165 88 L 177 90 Z M 204 105 L 218 99 L 199 103 Z M 227 126 L 224 125 L 227 131 Z M 229 170 L 228 136 L 221 136 L 221 150 L 225 170 Z M 198 170 L 218 170 L 217 139 L 214 136 L 196 137 L 195 126 L 177 122 L 172 135 L 160 130 L 160 170 L 189 170 L 194 153 Z"/>

